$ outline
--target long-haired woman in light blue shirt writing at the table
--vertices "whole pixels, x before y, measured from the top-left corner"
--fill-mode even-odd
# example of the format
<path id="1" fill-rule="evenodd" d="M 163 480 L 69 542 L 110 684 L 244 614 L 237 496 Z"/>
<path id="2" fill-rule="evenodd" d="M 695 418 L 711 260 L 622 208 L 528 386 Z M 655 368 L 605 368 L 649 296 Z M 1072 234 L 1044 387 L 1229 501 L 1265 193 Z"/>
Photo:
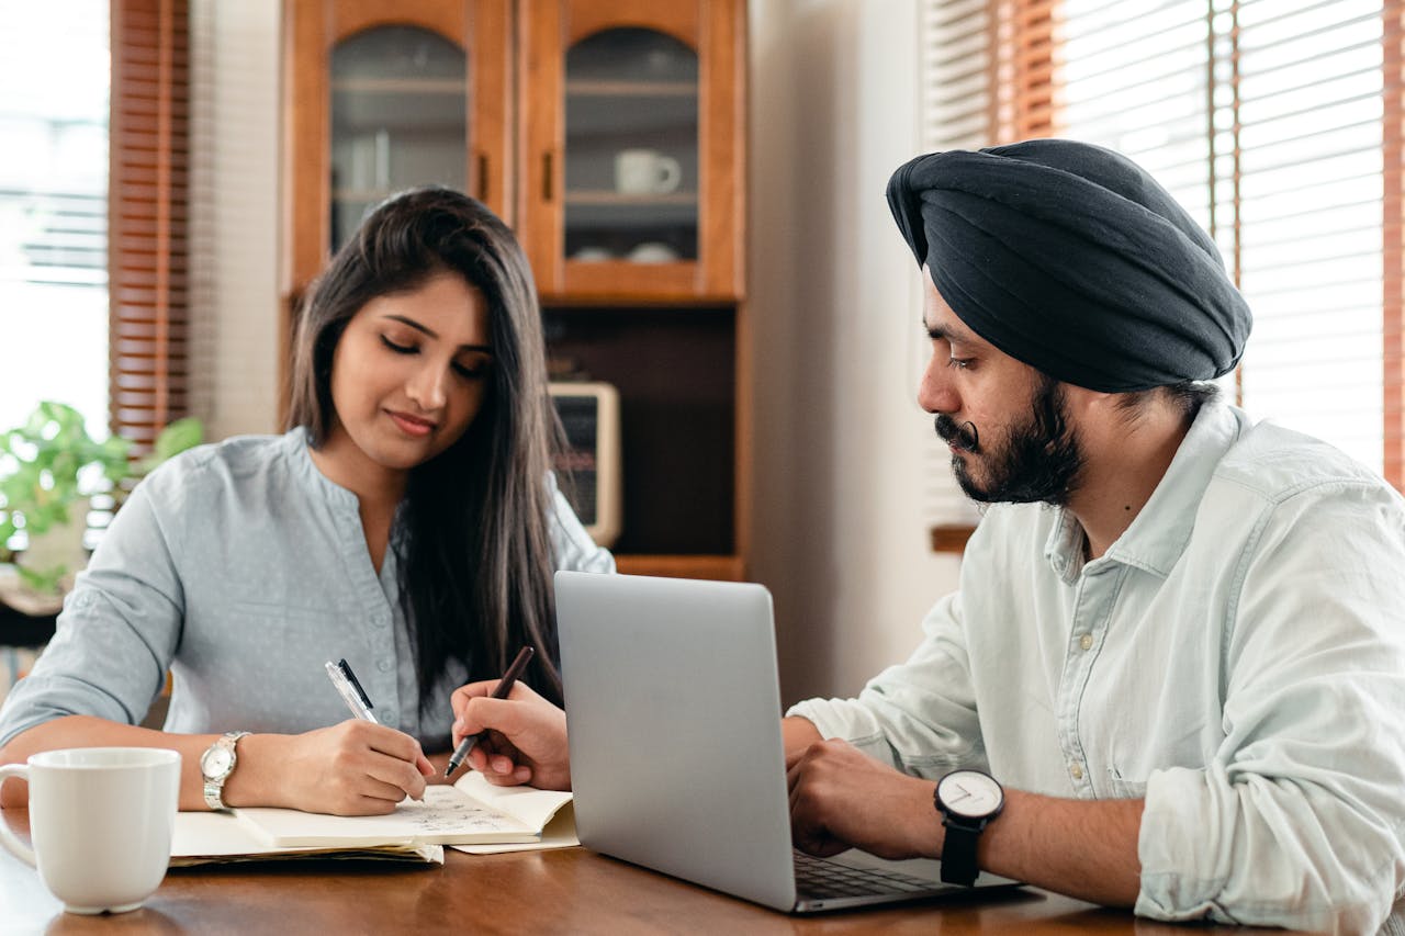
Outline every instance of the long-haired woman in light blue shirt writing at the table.
<path id="1" fill-rule="evenodd" d="M 379 205 L 313 284 L 292 382 L 285 436 L 192 450 L 132 492 L 0 710 L 0 762 L 174 748 L 183 810 L 389 812 L 436 773 L 457 686 L 531 645 L 524 682 L 559 701 L 552 569 L 614 562 L 549 472 L 511 232 L 445 188 Z M 347 718 L 340 658 L 381 724 Z M 167 669 L 164 731 L 140 728 Z"/>

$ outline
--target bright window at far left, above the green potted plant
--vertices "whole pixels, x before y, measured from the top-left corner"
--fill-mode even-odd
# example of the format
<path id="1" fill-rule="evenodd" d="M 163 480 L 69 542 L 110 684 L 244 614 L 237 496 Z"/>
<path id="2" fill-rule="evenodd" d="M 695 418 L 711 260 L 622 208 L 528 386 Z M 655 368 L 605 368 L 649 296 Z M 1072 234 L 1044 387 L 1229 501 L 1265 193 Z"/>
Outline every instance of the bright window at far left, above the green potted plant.
<path id="1" fill-rule="evenodd" d="M 41 399 L 107 436 L 108 3 L 8 4 L 0 31 L 0 429 Z"/>

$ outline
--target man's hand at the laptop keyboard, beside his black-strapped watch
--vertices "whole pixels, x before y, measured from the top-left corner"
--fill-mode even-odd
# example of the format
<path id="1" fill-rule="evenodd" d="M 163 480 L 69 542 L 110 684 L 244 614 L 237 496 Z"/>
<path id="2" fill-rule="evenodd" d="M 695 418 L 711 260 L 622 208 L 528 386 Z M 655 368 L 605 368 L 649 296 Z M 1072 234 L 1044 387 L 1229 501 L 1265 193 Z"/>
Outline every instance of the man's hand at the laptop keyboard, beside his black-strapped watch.
<path id="1" fill-rule="evenodd" d="M 937 857 L 944 829 L 936 783 L 898 773 L 843 741 L 788 758 L 791 835 L 811 854 L 860 847 L 885 859 Z"/>

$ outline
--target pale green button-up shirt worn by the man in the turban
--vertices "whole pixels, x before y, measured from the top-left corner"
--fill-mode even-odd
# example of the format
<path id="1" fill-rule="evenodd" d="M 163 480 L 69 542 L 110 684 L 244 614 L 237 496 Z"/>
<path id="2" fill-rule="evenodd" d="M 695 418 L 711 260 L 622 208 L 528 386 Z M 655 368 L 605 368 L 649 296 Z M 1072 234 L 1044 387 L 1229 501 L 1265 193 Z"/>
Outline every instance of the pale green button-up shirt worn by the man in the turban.
<path id="1" fill-rule="evenodd" d="M 1144 916 L 1373 933 L 1390 914 L 1405 505 L 1335 448 L 1207 405 L 1106 555 L 1085 565 L 1059 509 L 995 506 L 923 631 L 857 700 L 792 714 L 924 777 L 1145 797 Z"/>

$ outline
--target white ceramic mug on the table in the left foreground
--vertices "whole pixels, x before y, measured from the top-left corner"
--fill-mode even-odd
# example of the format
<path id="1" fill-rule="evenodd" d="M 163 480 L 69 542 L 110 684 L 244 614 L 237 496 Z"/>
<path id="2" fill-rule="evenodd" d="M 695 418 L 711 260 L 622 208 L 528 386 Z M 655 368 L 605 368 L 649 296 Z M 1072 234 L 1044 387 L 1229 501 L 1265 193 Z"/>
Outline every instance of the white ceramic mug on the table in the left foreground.
<path id="1" fill-rule="evenodd" d="M 180 753 L 162 748 L 45 750 L 0 766 L 30 781 L 25 846 L 0 822 L 0 845 L 39 871 L 70 914 L 136 909 L 166 877 L 180 801 Z"/>

